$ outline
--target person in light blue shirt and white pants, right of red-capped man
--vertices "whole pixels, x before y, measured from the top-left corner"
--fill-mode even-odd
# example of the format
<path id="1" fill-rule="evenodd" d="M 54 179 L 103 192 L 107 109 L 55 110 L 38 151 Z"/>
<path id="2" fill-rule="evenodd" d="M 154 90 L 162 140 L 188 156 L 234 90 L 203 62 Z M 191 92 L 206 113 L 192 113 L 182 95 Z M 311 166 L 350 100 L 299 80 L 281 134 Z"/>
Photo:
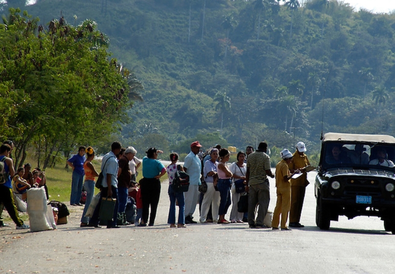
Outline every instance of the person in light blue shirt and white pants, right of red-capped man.
<path id="1" fill-rule="evenodd" d="M 213 148 L 210 152 L 211 159 L 207 160 L 204 163 L 203 175 L 204 180 L 207 183 L 207 191 L 204 193 L 202 208 L 200 211 L 200 222 L 207 222 L 207 213 L 210 209 L 210 204 L 212 205 L 213 212 L 213 220 L 214 222 L 218 221 L 218 212 L 219 212 L 219 191 L 214 189 L 214 177 L 213 175 L 217 174 L 217 158 L 218 158 L 218 149 Z"/>

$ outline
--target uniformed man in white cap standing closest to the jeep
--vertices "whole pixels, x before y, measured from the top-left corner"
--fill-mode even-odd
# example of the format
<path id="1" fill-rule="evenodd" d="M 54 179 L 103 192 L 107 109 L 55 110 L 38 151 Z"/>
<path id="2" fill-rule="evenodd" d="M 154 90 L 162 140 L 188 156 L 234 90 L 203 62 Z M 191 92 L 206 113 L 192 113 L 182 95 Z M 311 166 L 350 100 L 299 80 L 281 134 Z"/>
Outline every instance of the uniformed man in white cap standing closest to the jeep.
<path id="1" fill-rule="evenodd" d="M 293 153 L 293 162 L 288 164 L 290 172 L 300 170 L 304 174 L 291 179 L 291 211 L 289 213 L 289 226 L 290 227 L 304 227 L 300 224 L 300 215 L 303 208 L 303 201 L 305 200 L 306 187 L 309 185 L 307 180 L 307 172 L 304 169 L 310 166 L 309 159 L 306 154 L 305 143 L 299 142 L 296 144 L 296 151 Z"/>

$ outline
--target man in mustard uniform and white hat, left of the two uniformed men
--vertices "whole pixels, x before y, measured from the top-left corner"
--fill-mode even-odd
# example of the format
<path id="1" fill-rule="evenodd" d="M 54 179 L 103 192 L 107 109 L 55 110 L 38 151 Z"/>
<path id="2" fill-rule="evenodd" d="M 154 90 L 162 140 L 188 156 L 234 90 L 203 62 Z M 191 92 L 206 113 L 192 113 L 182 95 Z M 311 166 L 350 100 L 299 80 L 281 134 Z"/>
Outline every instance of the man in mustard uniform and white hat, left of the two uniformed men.
<path id="1" fill-rule="evenodd" d="M 275 167 L 275 185 L 277 188 L 277 201 L 274 208 L 273 220 L 271 222 L 272 230 L 278 230 L 281 214 L 281 230 L 290 230 L 287 227 L 288 212 L 291 208 L 291 182 L 289 181 L 293 174 L 290 173 L 288 165 L 292 163 L 293 155 L 288 149 L 281 152 L 282 160 Z"/>

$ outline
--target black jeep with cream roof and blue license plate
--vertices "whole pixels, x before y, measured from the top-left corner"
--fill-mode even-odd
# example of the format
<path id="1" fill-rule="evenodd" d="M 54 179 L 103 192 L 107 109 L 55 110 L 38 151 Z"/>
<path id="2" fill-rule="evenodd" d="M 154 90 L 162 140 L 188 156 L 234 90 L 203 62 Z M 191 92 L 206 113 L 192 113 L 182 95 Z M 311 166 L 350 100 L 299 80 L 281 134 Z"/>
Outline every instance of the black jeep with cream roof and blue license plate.
<path id="1" fill-rule="evenodd" d="M 395 234 L 395 138 L 326 133 L 315 179 L 315 221 L 328 230 L 339 215 L 378 216 Z"/>

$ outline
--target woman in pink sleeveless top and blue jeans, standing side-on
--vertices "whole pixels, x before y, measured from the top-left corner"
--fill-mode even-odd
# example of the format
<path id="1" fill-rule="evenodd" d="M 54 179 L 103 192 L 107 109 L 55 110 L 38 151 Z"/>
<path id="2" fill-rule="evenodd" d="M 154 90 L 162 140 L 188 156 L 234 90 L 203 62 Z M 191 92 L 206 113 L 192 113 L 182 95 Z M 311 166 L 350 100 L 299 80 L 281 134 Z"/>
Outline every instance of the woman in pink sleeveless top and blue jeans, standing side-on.
<path id="1" fill-rule="evenodd" d="M 229 223 L 225 219 L 225 214 L 230 207 L 230 187 L 232 185 L 232 176 L 233 173 L 229 170 L 226 162 L 229 161 L 230 153 L 226 148 L 223 148 L 219 152 L 219 163 L 217 166 L 218 173 L 218 184 L 217 188 L 220 195 L 220 203 L 219 203 L 219 220 L 218 223 Z"/>

